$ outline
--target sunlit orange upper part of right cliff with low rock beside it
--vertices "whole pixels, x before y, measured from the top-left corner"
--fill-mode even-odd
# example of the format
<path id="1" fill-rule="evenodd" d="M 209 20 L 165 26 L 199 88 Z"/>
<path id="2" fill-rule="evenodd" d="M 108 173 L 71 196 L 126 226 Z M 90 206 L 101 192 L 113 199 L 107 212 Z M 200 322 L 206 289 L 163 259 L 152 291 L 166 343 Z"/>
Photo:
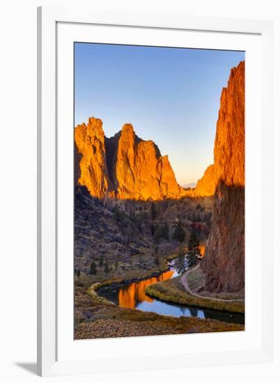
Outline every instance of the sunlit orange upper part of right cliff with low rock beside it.
<path id="1" fill-rule="evenodd" d="M 244 186 L 244 61 L 231 70 L 227 88 L 221 92 L 214 145 L 214 164 L 197 182 L 194 196 L 212 196 L 223 180 Z"/>

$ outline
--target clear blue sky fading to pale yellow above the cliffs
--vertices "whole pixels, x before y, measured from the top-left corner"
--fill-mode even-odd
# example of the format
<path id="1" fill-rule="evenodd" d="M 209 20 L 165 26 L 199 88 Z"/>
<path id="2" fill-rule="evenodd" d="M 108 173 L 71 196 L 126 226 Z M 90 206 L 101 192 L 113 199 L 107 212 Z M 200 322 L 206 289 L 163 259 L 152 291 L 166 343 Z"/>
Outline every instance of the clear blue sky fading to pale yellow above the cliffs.
<path id="1" fill-rule="evenodd" d="M 101 118 L 105 135 L 132 123 L 152 139 L 180 185 L 213 162 L 221 90 L 244 52 L 75 43 L 75 125 Z"/>

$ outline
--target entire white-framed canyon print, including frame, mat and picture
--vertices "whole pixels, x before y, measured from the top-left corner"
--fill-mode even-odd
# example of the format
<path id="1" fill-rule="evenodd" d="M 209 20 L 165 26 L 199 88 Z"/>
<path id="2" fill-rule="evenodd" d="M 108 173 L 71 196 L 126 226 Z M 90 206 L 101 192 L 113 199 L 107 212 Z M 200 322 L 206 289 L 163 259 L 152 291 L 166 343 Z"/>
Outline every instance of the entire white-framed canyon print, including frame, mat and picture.
<path id="1" fill-rule="evenodd" d="M 38 9 L 40 375 L 271 360 L 271 105 L 270 22 Z"/>

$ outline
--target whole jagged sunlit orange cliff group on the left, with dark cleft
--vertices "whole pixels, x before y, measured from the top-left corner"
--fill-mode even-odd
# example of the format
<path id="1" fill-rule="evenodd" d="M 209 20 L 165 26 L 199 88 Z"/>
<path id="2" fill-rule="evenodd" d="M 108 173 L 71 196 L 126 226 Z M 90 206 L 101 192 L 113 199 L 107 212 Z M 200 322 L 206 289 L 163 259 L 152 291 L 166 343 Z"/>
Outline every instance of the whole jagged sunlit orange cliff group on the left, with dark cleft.
<path id="1" fill-rule="evenodd" d="M 168 157 L 153 141 L 139 139 L 131 124 L 108 139 L 102 121 L 90 118 L 75 127 L 75 146 L 75 178 L 92 196 L 160 201 L 185 195 Z"/>

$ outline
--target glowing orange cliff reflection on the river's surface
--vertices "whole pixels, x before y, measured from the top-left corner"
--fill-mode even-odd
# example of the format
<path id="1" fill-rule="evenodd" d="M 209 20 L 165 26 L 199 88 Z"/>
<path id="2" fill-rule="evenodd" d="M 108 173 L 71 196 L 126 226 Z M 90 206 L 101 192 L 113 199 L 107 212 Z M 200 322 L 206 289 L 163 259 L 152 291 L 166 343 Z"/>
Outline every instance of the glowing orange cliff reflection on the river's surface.
<path id="1" fill-rule="evenodd" d="M 145 294 L 145 289 L 153 283 L 166 281 L 171 279 L 173 271 L 168 271 L 160 274 L 159 276 L 153 276 L 153 278 L 146 279 L 145 281 L 139 281 L 130 283 L 130 286 L 124 289 L 120 289 L 118 292 L 118 304 L 120 307 L 134 308 L 137 302 L 153 302 L 153 298 Z"/>

